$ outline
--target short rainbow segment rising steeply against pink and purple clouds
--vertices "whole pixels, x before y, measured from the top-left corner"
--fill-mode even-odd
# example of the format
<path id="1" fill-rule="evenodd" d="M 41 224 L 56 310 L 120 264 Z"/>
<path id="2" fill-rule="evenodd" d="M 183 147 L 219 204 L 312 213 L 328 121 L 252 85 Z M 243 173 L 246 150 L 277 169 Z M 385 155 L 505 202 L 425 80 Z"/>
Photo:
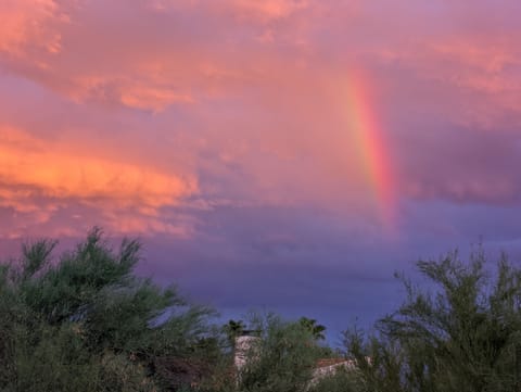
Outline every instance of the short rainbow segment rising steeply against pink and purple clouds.
<path id="1" fill-rule="evenodd" d="M 390 229 L 395 220 L 395 181 L 387 143 L 377 121 L 368 78 L 359 72 L 351 75 L 346 94 L 347 126 L 382 224 Z"/>

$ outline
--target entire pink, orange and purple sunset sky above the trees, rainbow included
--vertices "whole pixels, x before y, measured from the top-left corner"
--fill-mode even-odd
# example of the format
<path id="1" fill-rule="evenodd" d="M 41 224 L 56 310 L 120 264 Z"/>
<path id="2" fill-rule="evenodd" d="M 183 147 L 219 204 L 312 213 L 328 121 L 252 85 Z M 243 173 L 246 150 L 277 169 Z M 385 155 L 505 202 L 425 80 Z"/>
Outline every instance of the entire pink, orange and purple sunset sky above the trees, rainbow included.
<path id="1" fill-rule="evenodd" d="M 330 337 L 521 256 L 518 0 L 2 0 L 0 255 L 100 226 L 223 317 Z"/>

